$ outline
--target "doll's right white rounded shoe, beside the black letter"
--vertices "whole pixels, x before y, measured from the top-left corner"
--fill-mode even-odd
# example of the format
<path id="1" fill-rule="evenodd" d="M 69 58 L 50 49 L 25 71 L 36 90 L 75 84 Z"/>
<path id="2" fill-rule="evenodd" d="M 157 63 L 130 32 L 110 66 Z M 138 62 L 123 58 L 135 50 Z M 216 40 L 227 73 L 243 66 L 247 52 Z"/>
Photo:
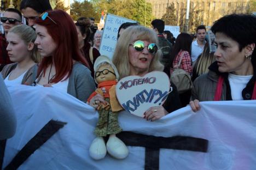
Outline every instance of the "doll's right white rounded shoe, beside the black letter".
<path id="1" fill-rule="evenodd" d="M 125 159 L 129 154 L 129 150 L 118 137 L 110 135 L 107 142 L 108 153 L 116 159 Z"/>

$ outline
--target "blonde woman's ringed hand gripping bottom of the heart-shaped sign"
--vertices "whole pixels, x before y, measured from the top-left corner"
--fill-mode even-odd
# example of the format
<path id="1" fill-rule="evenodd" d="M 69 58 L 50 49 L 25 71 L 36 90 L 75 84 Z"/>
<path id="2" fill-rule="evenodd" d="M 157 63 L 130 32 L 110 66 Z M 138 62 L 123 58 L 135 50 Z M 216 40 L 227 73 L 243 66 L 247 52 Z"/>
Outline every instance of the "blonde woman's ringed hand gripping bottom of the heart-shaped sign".
<path id="1" fill-rule="evenodd" d="M 144 119 L 154 121 L 166 116 L 166 114 L 168 114 L 168 112 L 162 106 L 150 107 L 144 113 Z"/>

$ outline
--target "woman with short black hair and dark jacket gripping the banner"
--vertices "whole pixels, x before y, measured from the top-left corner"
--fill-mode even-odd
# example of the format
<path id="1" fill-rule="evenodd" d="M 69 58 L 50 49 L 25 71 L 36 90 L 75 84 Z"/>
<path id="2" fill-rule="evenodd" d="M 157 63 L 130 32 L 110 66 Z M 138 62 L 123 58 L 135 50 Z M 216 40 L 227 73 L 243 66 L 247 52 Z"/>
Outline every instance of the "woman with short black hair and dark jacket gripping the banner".
<path id="1" fill-rule="evenodd" d="M 190 106 L 200 110 L 199 101 L 256 99 L 256 16 L 231 14 L 217 20 L 216 62 L 208 74 L 196 78 Z"/>

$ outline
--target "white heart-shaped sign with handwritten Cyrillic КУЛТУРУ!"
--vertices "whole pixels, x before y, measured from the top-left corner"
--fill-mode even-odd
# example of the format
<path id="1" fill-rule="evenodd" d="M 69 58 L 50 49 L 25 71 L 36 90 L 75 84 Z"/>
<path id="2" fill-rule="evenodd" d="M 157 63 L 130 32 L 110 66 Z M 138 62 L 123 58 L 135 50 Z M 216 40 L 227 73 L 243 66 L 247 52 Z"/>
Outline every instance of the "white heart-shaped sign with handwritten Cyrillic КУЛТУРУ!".
<path id="1" fill-rule="evenodd" d="M 148 108 L 164 104 L 169 90 L 170 80 L 161 71 L 152 71 L 143 77 L 124 77 L 115 88 L 120 105 L 139 117 L 144 117 Z"/>

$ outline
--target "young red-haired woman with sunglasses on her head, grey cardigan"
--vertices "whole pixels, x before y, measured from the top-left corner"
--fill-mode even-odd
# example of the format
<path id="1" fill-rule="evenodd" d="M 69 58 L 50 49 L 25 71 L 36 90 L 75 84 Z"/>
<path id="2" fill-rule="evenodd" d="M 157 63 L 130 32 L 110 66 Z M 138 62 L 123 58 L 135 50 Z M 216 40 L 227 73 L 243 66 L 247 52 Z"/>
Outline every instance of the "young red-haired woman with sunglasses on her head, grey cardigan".
<path id="1" fill-rule="evenodd" d="M 48 11 L 36 20 L 35 44 L 43 57 L 34 85 L 53 87 L 86 101 L 95 90 L 88 62 L 79 51 L 77 29 L 62 10 Z"/>

